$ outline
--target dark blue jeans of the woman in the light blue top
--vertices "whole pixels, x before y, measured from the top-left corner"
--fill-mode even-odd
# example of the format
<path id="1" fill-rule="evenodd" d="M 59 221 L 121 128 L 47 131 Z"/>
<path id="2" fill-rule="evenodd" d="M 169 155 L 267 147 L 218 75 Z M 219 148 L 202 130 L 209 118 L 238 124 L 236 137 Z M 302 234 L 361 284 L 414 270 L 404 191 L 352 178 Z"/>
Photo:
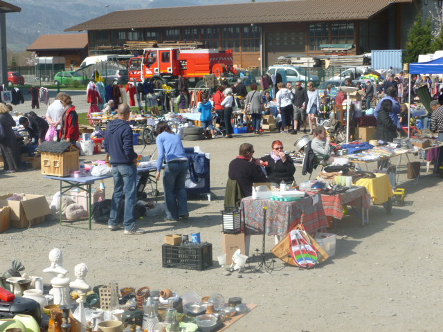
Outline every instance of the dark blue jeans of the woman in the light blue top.
<path id="1" fill-rule="evenodd" d="M 166 217 L 178 220 L 179 216 L 188 214 L 188 195 L 185 181 L 188 175 L 188 161 L 185 163 L 167 163 L 163 173 L 163 190 L 165 190 Z"/>

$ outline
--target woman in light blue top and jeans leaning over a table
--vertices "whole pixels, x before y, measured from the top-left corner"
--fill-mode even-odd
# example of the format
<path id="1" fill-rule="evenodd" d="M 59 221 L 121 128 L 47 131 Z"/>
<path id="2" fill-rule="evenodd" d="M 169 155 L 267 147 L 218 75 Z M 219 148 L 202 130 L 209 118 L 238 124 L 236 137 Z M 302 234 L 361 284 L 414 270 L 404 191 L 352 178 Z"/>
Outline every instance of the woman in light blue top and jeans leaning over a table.
<path id="1" fill-rule="evenodd" d="M 163 173 L 163 190 L 165 192 L 166 219 L 170 221 L 188 220 L 188 196 L 185 181 L 188 174 L 188 157 L 179 135 L 171 131 L 168 122 L 157 124 L 156 138 L 159 149 L 156 180 L 160 179 L 163 160 L 166 161 Z"/>

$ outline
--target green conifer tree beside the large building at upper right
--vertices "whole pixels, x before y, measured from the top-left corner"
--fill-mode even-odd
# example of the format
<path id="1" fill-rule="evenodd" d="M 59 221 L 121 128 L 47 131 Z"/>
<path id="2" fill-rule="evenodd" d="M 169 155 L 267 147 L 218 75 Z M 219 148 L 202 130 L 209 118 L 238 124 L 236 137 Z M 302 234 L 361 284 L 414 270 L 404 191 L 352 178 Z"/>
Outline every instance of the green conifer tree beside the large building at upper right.
<path id="1" fill-rule="evenodd" d="M 432 39 L 431 20 L 428 19 L 423 24 L 422 13 L 419 12 L 413 26 L 409 29 L 404 62 L 407 64 L 417 62 L 420 54 L 430 53 Z"/>

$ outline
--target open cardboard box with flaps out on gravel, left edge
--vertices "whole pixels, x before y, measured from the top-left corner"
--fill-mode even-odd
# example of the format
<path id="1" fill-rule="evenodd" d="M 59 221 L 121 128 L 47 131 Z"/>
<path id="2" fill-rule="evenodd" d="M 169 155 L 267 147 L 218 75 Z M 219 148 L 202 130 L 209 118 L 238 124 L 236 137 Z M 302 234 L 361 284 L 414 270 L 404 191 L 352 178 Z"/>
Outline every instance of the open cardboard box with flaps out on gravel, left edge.
<path id="1" fill-rule="evenodd" d="M 43 195 L 26 194 L 26 201 L 8 201 L 12 194 L 0 196 L 0 206 L 9 206 L 10 227 L 25 228 L 44 221 L 44 216 L 51 214 L 48 202 Z"/>

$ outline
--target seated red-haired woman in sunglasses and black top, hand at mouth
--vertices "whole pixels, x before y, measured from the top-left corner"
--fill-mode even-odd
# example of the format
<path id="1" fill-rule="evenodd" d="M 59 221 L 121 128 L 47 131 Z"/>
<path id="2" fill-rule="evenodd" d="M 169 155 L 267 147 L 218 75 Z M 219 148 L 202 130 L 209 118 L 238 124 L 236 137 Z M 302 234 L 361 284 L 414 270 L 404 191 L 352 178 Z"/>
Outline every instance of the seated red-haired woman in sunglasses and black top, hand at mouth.
<path id="1" fill-rule="evenodd" d="M 296 172 L 291 157 L 284 153 L 283 143 L 280 140 L 274 140 L 271 147 L 271 154 L 260 158 L 264 165 L 267 162 L 264 168 L 268 181 L 278 185 L 284 181 L 284 183 L 291 185 L 294 181 L 293 174 Z"/>

